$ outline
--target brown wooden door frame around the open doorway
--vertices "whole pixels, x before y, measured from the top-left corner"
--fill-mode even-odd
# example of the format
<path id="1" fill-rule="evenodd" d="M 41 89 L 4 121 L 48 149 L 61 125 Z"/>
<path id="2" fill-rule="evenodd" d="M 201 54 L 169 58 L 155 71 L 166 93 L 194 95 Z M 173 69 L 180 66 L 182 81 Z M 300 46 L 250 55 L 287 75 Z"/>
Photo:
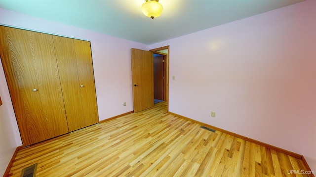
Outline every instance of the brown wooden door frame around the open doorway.
<path id="1" fill-rule="evenodd" d="M 168 46 L 163 46 L 163 47 L 159 47 L 159 48 L 155 48 L 155 49 L 151 49 L 149 51 L 153 52 L 153 53 L 157 53 L 157 54 L 162 54 L 159 53 L 158 51 L 161 50 L 168 50 L 168 54 L 163 54 L 166 55 L 165 57 L 165 101 L 167 102 L 167 112 L 169 112 L 169 54 L 170 54 L 170 50 L 169 50 L 169 45 Z"/>

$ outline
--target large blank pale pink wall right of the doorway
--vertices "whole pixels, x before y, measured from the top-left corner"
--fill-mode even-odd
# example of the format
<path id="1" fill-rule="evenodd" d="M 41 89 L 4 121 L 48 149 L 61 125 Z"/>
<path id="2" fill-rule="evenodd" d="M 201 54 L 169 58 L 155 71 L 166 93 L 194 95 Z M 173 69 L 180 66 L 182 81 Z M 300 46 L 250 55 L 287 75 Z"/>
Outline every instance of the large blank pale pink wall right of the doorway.
<path id="1" fill-rule="evenodd" d="M 150 48 L 165 45 L 170 112 L 303 154 L 316 170 L 316 0 Z"/>

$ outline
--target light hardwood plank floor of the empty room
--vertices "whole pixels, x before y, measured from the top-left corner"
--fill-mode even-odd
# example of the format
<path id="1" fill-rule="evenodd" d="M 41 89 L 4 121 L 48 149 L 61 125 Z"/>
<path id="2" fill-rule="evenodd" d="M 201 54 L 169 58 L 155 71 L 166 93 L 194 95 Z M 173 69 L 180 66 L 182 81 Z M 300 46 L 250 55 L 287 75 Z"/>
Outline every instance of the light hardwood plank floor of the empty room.
<path id="1" fill-rule="evenodd" d="M 37 177 L 309 177 L 300 159 L 211 132 L 166 113 L 166 103 L 24 148 L 10 171 Z"/>

